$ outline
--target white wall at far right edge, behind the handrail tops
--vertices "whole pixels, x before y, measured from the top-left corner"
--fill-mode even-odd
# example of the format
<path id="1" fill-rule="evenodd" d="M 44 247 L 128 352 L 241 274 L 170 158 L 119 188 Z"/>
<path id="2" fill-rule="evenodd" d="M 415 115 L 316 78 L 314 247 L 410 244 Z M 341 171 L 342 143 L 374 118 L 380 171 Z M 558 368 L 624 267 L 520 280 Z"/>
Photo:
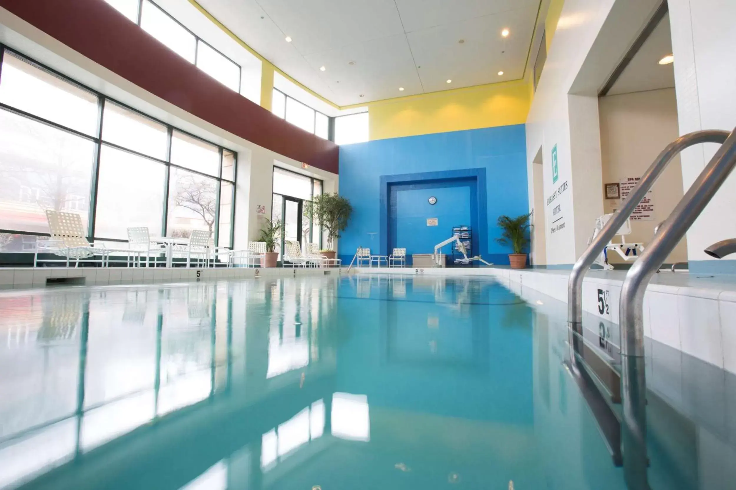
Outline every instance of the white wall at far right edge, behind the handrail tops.
<path id="1" fill-rule="evenodd" d="M 679 131 L 736 126 L 736 1 L 669 0 Z M 699 145 L 682 154 L 687 188 L 718 146 Z M 687 233 L 687 255 L 710 259 L 703 249 L 736 237 L 736 175 L 731 175 Z M 730 257 L 733 259 L 733 257 Z"/>

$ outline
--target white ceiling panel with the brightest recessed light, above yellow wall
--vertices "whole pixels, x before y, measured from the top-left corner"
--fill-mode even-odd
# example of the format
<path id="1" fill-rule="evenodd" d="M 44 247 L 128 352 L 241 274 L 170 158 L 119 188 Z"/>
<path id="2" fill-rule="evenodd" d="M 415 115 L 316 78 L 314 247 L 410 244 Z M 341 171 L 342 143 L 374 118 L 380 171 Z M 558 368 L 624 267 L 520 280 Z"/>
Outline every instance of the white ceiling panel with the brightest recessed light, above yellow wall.
<path id="1" fill-rule="evenodd" d="M 532 7 L 409 32 L 424 90 L 522 78 L 536 16 Z M 513 33 L 506 39 L 499 35 L 504 27 Z M 448 85 L 447 79 L 453 83 Z"/>

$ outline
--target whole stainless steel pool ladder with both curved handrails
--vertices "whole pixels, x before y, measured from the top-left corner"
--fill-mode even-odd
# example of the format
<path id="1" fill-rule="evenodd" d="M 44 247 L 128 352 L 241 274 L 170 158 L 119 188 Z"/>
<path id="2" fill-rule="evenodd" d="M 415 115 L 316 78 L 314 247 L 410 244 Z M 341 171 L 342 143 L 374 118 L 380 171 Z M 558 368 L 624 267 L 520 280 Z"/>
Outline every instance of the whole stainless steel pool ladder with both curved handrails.
<path id="1" fill-rule="evenodd" d="M 721 143 L 721 147 L 718 148 L 673 212 L 659 225 L 651 243 L 626 273 L 621 287 L 619 345 L 623 423 L 621 424 L 620 451 L 623 454 L 624 478 L 629 490 L 649 489 L 645 417 L 644 292 L 652 275 L 659 270 L 667 256 L 684 237 L 736 166 L 736 129 L 731 133 L 718 130 L 695 131 L 670 143 L 657 156 L 623 205 L 583 252 L 573 266 L 567 286 L 567 323 L 573 336 L 571 348 L 577 349 L 581 343 L 576 339 L 581 339 L 583 334 L 582 289 L 585 273 L 595 262 L 595 257 L 603 252 L 606 244 L 634 212 L 646 192 L 651 189 L 674 157 L 685 148 L 699 143 Z M 574 355 L 575 353 L 573 353 L 573 361 Z"/>

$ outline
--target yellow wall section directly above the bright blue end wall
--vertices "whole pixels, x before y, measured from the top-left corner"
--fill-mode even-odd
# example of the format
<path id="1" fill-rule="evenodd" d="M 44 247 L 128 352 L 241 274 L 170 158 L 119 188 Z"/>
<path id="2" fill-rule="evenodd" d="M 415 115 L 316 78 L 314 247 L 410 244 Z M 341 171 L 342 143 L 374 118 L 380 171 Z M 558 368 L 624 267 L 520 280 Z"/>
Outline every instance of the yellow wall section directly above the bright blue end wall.
<path id="1" fill-rule="evenodd" d="M 530 104 L 523 81 L 372 102 L 367 104 L 370 139 L 523 124 Z"/>

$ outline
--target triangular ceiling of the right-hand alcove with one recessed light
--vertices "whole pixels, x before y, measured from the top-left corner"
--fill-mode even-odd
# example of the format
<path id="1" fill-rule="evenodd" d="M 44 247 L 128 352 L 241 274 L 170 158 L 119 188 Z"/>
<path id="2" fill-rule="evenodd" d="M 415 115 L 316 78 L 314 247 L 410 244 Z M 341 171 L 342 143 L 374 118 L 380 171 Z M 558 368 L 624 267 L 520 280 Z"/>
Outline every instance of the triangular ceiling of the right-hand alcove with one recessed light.
<path id="1" fill-rule="evenodd" d="M 672 54 L 672 35 L 670 35 L 670 16 L 657 24 L 642 47 L 634 54 L 629 65 L 609 90 L 609 96 L 621 93 L 644 92 L 675 86 L 673 65 L 659 65 L 659 60 Z"/>

